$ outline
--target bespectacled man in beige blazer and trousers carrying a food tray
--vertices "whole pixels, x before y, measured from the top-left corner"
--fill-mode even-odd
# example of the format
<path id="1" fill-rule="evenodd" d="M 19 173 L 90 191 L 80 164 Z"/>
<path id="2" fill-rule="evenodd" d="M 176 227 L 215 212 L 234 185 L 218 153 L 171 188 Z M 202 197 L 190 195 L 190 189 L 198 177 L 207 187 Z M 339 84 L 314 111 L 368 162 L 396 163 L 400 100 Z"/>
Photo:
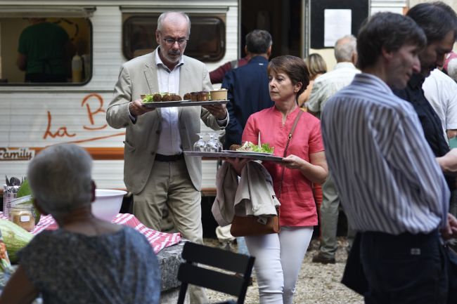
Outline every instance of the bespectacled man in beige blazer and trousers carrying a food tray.
<path id="1" fill-rule="evenodd" d="M 167 107 L 153 110 L 141 105 L 140 95 L 154 92 L 210 91 L 205 64 L 189 58 L 184 49 L 191 24 L 184 13 L 162 13 L 155 37 L 158 48 L 121 67 L 114 97 L 106 112 L 113 128 L 126 128 L 124 183 L 134 194 L 134 215 L 160 230 L 162 209 L 168 207 L 182 236 L 202 244 L 202 161 L 187 157 L 198 140 L 200 119 L 214 130 L 225 128 L 225 105 Z M 204 294 L 191 290 L 191 303 L 202 303 Z"/>

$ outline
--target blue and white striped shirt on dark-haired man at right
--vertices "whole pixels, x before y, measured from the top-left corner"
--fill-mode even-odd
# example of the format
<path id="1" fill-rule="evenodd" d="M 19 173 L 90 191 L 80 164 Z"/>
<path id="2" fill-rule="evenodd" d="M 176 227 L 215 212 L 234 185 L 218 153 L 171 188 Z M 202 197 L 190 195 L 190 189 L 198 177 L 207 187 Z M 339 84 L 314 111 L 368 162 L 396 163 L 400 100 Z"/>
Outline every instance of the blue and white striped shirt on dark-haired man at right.
<path id="1" fill-rule="evenodd" d="M 328 100 L 322 136 L 350 225 L 390 234 L 444 227 L 449 190 L 411 104 L 372 74 Z"/>

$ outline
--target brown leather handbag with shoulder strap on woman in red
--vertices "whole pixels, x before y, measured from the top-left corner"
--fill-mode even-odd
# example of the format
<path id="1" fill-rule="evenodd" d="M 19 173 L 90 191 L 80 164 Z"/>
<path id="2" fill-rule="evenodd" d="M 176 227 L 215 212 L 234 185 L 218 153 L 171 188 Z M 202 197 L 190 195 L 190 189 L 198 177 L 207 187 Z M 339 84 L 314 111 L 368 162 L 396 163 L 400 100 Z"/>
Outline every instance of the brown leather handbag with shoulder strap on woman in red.
<path id="1" fill-rule="evenodd" d="M 300 111 L 295 118 L 294 124 L 288 136 L 288 142 L 285 145 L 283 157 L 287 156 L 287 150 L 290 140 L 292 139 L 292 134 L 294 133 L 295 127 L 297 126 L 302 114 L 303 111 Z M 276 196 L 278 199 L 281 197 L 283 177 L 284 168 L 283 173 L 281 174 L 281 183 L 279 184 L 278 195 Z M 269 217 L 266 220 L 266 223 L 262 223 L 262 221 L 259 220 L 258 216 L 233 216 L 230 233 L 233 235 L 233 237 L 248 237 L 252 235 L 278 233 L 281 230 L 281 227 L 279 226 L 279 208 L 276 208 L 276 213 L 278 215 Z"/>

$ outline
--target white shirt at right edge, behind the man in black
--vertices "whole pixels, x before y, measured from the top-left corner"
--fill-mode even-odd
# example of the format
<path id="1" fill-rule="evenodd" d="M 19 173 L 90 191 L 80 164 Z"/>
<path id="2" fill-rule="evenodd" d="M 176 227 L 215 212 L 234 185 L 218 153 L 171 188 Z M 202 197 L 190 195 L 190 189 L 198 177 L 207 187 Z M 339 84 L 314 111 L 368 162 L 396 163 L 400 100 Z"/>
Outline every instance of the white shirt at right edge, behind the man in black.
<path id="1" fill-rule="evenodd" d="M 457 129 L 457 84 L 456 81 L 438 69 L 425 78 L 422 85 L 425 98 L 437 112 L 443 126 L 444 138 L 448 140 L 446 130 Z"/>

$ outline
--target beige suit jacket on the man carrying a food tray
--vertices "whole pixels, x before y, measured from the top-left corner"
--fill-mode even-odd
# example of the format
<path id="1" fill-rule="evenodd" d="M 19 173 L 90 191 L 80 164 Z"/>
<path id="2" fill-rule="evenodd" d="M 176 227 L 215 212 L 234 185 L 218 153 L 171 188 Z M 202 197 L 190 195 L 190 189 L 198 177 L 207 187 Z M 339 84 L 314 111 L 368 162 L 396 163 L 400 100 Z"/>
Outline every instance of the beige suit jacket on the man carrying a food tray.
<path id="1" fill-rule="evenodd" d="M 179 95 L 194 91 L 210 91 L 210 74 L 205 64 L 184 56 L 179 76 Z M 124 183 L 134 194 L 143 190 L 153 168 L 160 136 L 160 109 L 129 118 L 129 103 L 141 94 L 159 91 L 155 51 L 134 58 L 122 65 L 114 96 L 106 111 L 106 120 L 112 128 L 126 128 L 124 141 Z M 217 119 L 200 106 L 179 107 L 179 134 L 183 150 L 192 150 L 198 140 L 200 119 L 214 130 L 219 130 Z M 200 157 L 185 157 L 189 176 L 196 190 L 201 190 L 202 160 Z"/>

